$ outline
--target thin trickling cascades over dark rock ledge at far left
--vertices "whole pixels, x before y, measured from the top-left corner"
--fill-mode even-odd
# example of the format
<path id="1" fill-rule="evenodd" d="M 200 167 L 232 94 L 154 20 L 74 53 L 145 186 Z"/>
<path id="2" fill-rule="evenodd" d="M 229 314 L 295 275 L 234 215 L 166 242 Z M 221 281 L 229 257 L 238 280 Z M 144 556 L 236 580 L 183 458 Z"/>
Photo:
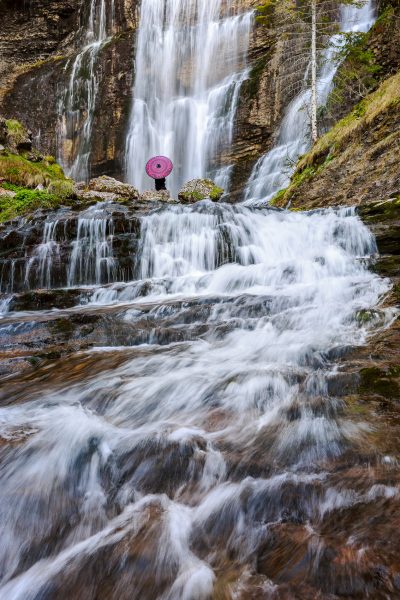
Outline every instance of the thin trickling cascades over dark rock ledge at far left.
<path id="1" fill-rule="evenodd" d="M 114 256 L 115 218 L 118 256 Z M 139 221 L 134 222 L 134 228 Z M 18 256 L 0 262 L 0 293 L 55 289 L 129 281 L 135 270 L 133 249 L 137 231 L 125 214 L 112 205 L 99 203 L 78 216 L 60 210 L 44 222 L 22 226 Z M 25 229 L 24 229 L 25 227 Z M 36 242 L 36 231 L 42 239 Z"/>

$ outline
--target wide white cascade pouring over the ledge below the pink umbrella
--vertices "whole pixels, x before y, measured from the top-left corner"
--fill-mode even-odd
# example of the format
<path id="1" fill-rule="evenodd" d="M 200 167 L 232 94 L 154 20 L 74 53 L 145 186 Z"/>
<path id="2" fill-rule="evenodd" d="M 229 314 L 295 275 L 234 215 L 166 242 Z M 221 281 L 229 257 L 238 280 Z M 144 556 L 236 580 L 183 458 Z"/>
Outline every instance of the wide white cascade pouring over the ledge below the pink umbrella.
<path id="1" fill-rule="evenodd" d="M 286 285 L 296 294 L 296 281 L 301 287 L 322 276 L 321 263 L 327 277 L 344 268 L 332 246 L 339 254 L 376 252 L 373 237 L 349 209 L 299 216 L 211 202 L 169 207 L 143 218 L 136 268 L 141 280 L 97 289 L 92 301 L 261 289 L 275 294 Z"/>

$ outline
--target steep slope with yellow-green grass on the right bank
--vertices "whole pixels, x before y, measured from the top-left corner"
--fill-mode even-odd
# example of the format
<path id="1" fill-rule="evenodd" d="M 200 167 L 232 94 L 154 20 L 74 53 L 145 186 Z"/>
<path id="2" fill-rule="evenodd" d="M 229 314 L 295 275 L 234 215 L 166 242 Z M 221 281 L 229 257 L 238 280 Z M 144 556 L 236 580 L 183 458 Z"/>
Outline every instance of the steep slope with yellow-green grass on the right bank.
<path id="1" fill-rule="evenodd" d="M 400 73 L 323 136 L 273 203 L 360 205 L 400 197 Z"/>

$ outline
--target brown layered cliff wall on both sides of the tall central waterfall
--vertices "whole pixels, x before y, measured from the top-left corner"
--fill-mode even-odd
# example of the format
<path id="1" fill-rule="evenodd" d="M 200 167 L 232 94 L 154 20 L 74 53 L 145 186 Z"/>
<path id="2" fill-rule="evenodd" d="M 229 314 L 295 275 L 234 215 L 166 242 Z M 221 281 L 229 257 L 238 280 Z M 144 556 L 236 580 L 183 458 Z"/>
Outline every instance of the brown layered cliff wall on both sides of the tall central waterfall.
<path id="1" fill-rule="evenodd" d="M 111 0 L 105 1 L 111 10 Z M 259 4 L 258 0 L 238 0 L 242 10 L 256 9 Z M 73 155 L 70 140 L 60 141 L 59 103 L 73 61 L 85 43 L 89 5 L 82 0 L 6 0 L 2 5 L 6 27 L 0 32 L 0 113 L 22 121 L 32 130 L 40 151 L 60 159 L 63 152 Z M 139 0 L 114 0 L 112 36 L 96 67 L 99 88 L 92 124 L 92 176 L 123 177 L 139 6 Z M 283 109 L 295 93 L 292 85 L 282 89 L 280 83 L 288 57 L 288 46 L 277 42 L 273 27 L 255 23 L 249 79 L 242 88 L 235 139 L 226 157 L 235 165 L 232 198 L 238 196 L 257 158 L 272 146 Z"/>

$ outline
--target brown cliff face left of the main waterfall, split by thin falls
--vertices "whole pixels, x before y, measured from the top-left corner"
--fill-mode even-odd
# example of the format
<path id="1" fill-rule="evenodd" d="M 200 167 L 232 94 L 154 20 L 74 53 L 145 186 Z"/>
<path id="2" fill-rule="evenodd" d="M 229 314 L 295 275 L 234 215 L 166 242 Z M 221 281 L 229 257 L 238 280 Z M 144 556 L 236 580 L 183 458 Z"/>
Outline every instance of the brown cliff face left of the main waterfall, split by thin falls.
<path id="1" fill-rule="evenodd" d="M 17 5 L 16 5 L 17 4 Z M 106 2 L 107 11 L 111 10 Z M 60 107 L 74 58 L 85 44 L 90 3 L 6 1 L 0 32 L 0 112 L 18 118 L 45 154 L 60 156 Z M 96 65 L 91 173 L 121 176 L 133 78 L 137 3 L 114 0 L 113 31 Z"/>

